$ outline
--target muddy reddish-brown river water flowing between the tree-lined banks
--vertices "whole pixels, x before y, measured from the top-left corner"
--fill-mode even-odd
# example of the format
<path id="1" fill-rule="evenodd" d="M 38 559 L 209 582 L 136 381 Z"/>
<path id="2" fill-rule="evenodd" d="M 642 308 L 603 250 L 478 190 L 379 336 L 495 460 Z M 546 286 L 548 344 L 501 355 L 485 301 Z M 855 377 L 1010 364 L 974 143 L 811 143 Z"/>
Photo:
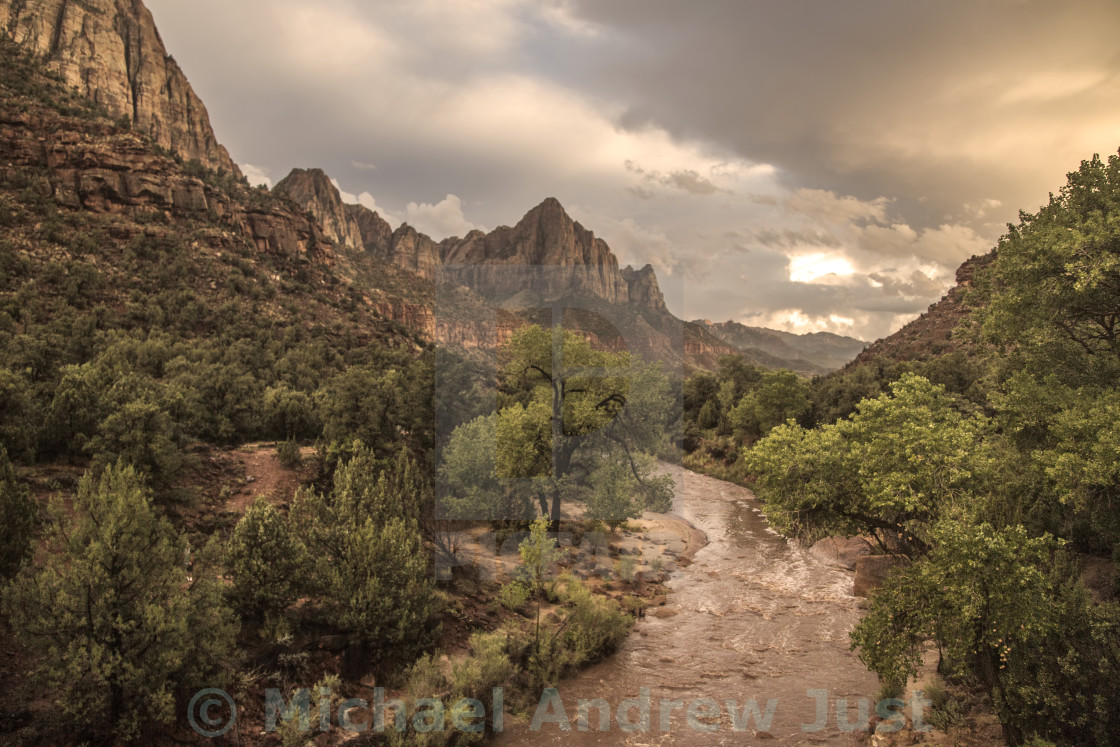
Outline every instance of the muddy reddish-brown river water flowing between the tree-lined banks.
<path id="1" fill-rule="evenodd" d="M 777 535 L 746 488 L 674 477 L 673 511 L 708 545 L 673 572 L 665 616 L 640 620 L 494 744 L 844 745 L 866 725 L 861 699 L 874 713 L 878 683 L 849 651 L 851 575 Z"/>

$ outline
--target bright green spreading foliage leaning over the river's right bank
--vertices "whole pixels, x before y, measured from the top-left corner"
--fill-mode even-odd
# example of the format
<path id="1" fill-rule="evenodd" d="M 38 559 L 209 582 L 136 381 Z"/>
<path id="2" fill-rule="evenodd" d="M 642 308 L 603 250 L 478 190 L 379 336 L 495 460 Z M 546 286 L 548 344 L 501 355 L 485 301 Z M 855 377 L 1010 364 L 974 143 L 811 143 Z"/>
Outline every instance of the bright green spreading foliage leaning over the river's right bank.
<path id="1" fill-rule="evenodd" d="M 780 426 L 744 458 L 780 531 L 809 539 L 870 532 L 885 547 L 922 552 L 950 508 L 999 488 L 992 439 L 984 418 L 907 375 L 850 420 Z"/>

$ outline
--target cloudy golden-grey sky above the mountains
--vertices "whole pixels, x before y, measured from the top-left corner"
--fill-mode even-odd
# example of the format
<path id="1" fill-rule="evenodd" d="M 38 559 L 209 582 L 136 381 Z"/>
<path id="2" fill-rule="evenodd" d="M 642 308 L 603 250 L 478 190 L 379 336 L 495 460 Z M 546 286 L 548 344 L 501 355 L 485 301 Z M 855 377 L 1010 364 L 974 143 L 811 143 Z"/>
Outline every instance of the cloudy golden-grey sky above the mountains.
<path id="1" fill-rule="evenodd" d="M 254 183 L 433 239 L 558 198 L 685 319 L 875 339 L 1120 148 L 1120 2 L 147 0 Z"/>

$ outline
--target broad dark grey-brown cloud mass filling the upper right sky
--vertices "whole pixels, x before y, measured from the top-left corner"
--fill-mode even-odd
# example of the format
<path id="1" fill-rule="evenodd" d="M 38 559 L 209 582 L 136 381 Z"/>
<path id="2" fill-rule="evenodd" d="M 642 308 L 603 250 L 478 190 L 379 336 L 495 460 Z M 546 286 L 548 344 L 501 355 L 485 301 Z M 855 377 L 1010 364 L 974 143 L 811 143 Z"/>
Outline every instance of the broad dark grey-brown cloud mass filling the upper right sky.
<path id="1" fill-rule="evenodd" d="M 624 127 L 728 144 L 797 185 L 908 196 L 916 224 L 995 197 L 998 226 L 1120 146 L 1117 2 L 576 4 L 631 41 L 586 82 L 629 101 Z"/>

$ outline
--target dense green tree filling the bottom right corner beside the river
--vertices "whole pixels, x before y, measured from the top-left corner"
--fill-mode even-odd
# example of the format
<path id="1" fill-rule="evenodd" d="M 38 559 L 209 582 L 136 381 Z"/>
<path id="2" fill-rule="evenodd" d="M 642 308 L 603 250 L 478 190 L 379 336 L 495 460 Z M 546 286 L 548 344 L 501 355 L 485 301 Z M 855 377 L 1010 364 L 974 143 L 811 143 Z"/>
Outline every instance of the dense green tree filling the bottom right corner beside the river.
<path id="1" fill-rule="evenodd" d="M 976 676 L 992 693 L 1009 744 L 1030 734 L 1112 744 L 1120 608 L 1088 598 L 1048 535 L 959 517 L 933 535 L 928 555 L 888 578 L 852 632 L 860 659 L 903 682 L 934 641 L 946 676 Z"/>

